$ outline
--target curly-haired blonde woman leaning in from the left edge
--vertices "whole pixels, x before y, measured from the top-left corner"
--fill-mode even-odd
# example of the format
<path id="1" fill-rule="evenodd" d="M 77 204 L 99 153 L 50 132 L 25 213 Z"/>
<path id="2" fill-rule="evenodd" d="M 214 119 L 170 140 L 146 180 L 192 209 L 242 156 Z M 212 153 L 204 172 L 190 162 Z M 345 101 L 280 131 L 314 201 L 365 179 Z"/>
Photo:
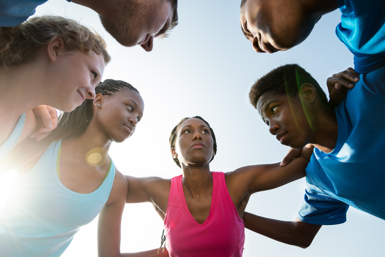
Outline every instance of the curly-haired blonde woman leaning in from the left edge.
<path id="1" fill-rule="evenodd" d="M 27 136 L 47 136 L 57 125 L 54 108 L 70 112 L 95 98 L 110 61 L 105 47 L 100 35 L 59 16 L 0 28 L 0 91 L 7 96 L 0 101 L 0 161 Z"/>

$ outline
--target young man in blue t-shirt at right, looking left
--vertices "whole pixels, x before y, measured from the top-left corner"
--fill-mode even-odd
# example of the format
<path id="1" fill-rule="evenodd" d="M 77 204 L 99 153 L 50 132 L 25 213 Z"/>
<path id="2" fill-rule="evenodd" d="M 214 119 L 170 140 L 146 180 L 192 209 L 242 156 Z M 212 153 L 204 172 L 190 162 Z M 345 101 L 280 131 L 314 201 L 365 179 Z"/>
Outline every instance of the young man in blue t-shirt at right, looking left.
<path id="1" fill-rule="evenodd" d="M 355 72 L 335 79 L 357 81 Z M 333 85 L 334 78 L 328 83 Z M 307 247 L 321 225 L 346 221 L 351 205 L 385 220 L 385 66 L 361 74 L 336 108 L 297 64 L 280 66 L 251 87 L 249 97 L 281 144 L 315 146 L 306 167 L 306 190 L 295 222 L 245 213 L 246 228 L 286 244 Z"/>

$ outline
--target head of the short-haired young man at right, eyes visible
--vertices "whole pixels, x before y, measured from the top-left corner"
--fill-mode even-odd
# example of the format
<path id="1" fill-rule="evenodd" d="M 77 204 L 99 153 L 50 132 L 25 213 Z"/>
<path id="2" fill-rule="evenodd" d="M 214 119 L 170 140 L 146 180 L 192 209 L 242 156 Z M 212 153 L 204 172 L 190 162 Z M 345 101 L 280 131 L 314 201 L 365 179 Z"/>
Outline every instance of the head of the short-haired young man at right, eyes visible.
<path id="1" fill-rule="evenodd" d="M 330 112 L 318 82 L 298 64 L 273 69 L 251 87 L 249 99 L 269 132 L 281 144 L 301 149 L 322 126 L 320 114 Z"/>

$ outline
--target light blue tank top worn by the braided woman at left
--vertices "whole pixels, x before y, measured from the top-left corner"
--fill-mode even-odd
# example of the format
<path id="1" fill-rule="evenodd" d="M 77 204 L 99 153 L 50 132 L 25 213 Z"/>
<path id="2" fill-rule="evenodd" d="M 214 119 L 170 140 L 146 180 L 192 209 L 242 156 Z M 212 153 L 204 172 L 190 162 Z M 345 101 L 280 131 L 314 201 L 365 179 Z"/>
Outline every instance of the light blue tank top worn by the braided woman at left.
<path id="1" fill-rule="evenodd" d="M 0 257 L 62 255 L 80 227 L 94 220 L 107 202 L 115 177 L 112 160 L 97 190 L 76 193 L 57 176 L 61 141 L 53 141 L 35 166 L 15 180 L 0 209 Z"/>

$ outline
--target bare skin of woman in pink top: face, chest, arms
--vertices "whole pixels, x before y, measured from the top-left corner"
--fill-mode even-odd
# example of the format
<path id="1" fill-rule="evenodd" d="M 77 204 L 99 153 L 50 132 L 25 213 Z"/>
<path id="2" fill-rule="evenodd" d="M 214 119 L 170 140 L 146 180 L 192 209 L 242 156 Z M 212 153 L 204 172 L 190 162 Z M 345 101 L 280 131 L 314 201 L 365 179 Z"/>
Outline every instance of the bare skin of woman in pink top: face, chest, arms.
<path id="1" fill-rule="evenodd" d="M 312 146 L 305 146 L 301 155 L 290 163 L 291 166 L 280 167 L 278 163 L 252 165 L 225 173 L 226 186 L 239 216 L 243 217 L 253 193 L 273 189 L 305 176 L 305 167 L 312 151 Z M 196 118 L 184 121 L 177 131 L 176 146 L 171 148 L 171 154 L 181 163 L 182 186 L 189 211 L 202 224 L 211 206 L 213 177 L 209 163 L 215 155 L 207 124 Z M 127 203 L 151 202 L 164 220 L 171 180 L 157 177 L 126 178 Z"/>

